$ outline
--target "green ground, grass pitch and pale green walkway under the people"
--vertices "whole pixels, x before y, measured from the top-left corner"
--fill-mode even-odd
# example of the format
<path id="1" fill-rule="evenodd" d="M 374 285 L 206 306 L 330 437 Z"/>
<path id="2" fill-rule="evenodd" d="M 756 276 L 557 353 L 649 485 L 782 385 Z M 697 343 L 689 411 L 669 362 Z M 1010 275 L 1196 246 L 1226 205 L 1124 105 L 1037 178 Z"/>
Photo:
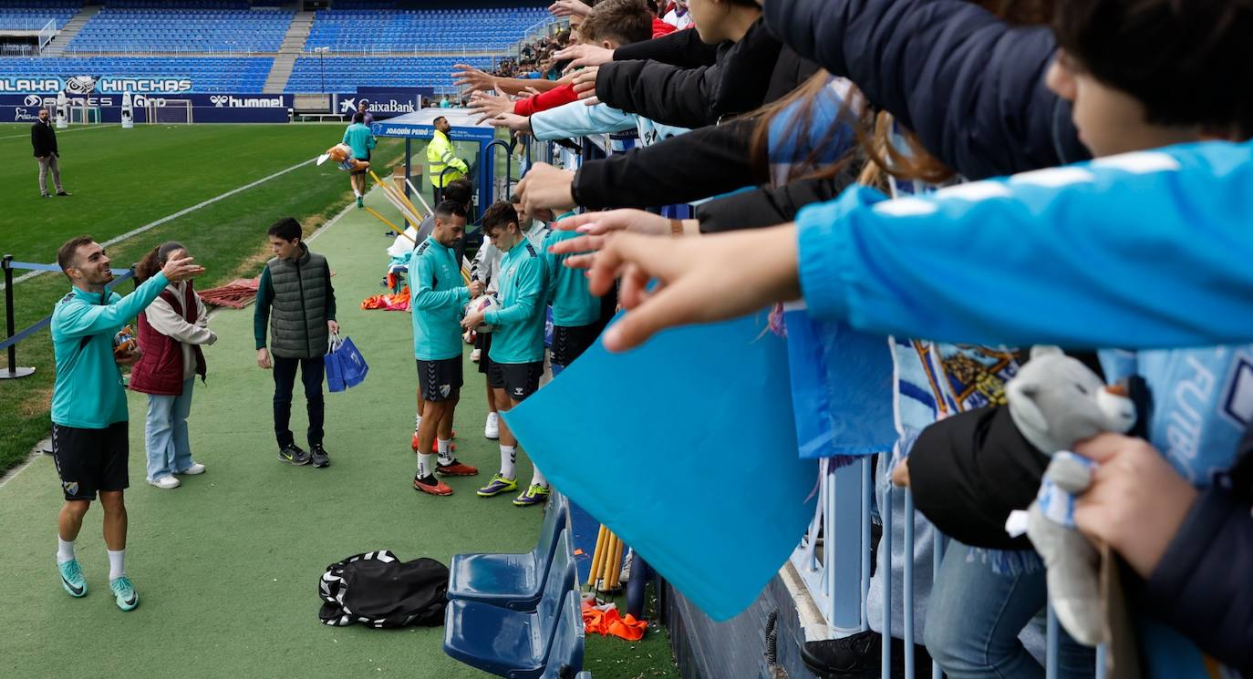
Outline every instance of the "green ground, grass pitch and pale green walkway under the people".
<path id="1" fill-rule="evenodd" d="M 340 133 L 332 125 L 71 128 L 59 142 L 63 179 L 74 195 L 41 199 L 28 129 L 0 125 L 0 153 L 10 158 L 0 168 L 0 251 L 45 263 L 70 236 L 105 241 L 127 234 L 299 165 Z M 390 169 L 400 154 L 398 143 L 385 142 L 376 167 Z M 0 469 L 20 465 L 0 485 L 0 573 L 6 575 L 0 674 L 481 675 L 444 655 L 441 628 L 368 630 L 317 620 L 317 579 L 338 559 L 377 549 L 444 562 L 465 551 L 525 551 L 540 521 L 539 510 L 476 497 L 484 476 L 451 480 L 455 495 L 445 499 L 410 487 L 416 385 L 410 317 L 360 308 L 361 299 L 382 292 L 390 241 L 365 210 L 342 212 L 350 202 L 343 173 L 303 165 L 109 248 L 115 264 L 125 267 L 157 243 L 178 239 L 208 267 L 198 281 L 203 288 L 256 276 L 267 257 L 264 229 L 276 218 L 294 215 L 309 234 L 326 225 L 311 247 L 330 258 L 340 322 L 371 365 L 360 387 L 327 396 L 332 466 L 279 464 L 271 375 L 256 367 L 252 311 L 214 313 L 211 326 L 219 341 L 205 352 L 209 378 L 197 385 L 189 420 L 192 448 L 208 472 L 170 491 L 144 482 L 145 401 L 129 395 L 127 566 L 142 599 L 135 611 L 119 611 L 108 595 L 98 507 L 88 514 L 78 550 L 90 594 L 71 599 L 58 584 L 56 472 L 48 455 L 23 465 L 49 427 L 54 368 L 48 333 L 19 346 L 18 363 L 38 372 L 0 382 Z M 367 204 L 395 215 L 378 192 Z M 46 316 L 66 289 L 54 274 L 15 286 L 18 326 Z M 128 289 L 124 283 L 122 292 Z M 467 360 L 457 455 L 490 474 L 497 452 L 482 437 L 485 398 L 475 368 Z M 303 427 L 298 405 L 297 397 L 297 432 Z M 519 475 L 529 477 L 528 465 L 520 465 Z M 663 630 L 634 644 L 589 638 L 586 669 L 598 679 L 677 675 Z"/>

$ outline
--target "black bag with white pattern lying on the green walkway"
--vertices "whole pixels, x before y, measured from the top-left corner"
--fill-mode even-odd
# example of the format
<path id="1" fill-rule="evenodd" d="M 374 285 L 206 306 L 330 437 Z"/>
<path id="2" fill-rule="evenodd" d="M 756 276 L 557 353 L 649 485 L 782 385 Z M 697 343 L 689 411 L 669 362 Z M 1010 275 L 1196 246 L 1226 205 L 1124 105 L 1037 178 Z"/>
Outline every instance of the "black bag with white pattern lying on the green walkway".
<path id="1" fill-rule="evenodd" d="M 367 551 L 327 566 L 318 583 L 327 625 L 373 628 L 439 626 L 447 606 L 449 568 L 434 559 L 402 562 L 395 554 Z"/>

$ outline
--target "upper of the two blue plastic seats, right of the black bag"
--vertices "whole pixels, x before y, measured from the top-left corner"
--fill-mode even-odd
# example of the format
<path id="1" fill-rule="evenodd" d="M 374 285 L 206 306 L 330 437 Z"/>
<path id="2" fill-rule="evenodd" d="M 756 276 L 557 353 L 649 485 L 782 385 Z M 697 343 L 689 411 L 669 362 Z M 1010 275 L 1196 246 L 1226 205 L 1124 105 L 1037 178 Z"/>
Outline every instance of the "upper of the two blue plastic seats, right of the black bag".
<path id="1" fill-rule="evenodd" d="M 559 492 L 544 515 L 540 539 L 525 554 L 457 554 L 449 566 L 449 599 L 533 611 L 544 593 L 558 537 L 569 526 L 569 501 Z"/>

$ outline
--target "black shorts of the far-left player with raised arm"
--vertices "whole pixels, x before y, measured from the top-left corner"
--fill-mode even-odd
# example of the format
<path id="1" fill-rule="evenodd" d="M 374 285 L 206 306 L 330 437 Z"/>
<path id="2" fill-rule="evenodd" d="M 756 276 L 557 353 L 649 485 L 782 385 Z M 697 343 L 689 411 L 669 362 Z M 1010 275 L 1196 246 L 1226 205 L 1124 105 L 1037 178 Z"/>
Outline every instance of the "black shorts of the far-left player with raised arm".
<path id="1" fill-rule="evenodd" d="M 95 500 L 98 491 L 130 487 L 129 455 L 125 422 L 103 430 L 53 425 L 53 460 L 66 500 Z"/>

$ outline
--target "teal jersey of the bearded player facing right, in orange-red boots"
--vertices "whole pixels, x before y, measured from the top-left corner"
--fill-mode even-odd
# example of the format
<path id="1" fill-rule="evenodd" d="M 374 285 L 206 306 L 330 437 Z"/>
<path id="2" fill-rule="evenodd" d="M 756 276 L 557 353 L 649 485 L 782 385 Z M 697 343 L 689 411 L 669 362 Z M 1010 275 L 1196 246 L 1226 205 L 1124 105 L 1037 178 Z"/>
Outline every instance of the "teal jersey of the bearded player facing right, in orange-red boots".
<path id="1" fill-rule="evenodd" d="M 410 309 L 413 312 L 413 356 L 442 361 L 461 356 L 461 318 L 470 288 L 452 248 L 434 237 L 408 258 Z"/>

